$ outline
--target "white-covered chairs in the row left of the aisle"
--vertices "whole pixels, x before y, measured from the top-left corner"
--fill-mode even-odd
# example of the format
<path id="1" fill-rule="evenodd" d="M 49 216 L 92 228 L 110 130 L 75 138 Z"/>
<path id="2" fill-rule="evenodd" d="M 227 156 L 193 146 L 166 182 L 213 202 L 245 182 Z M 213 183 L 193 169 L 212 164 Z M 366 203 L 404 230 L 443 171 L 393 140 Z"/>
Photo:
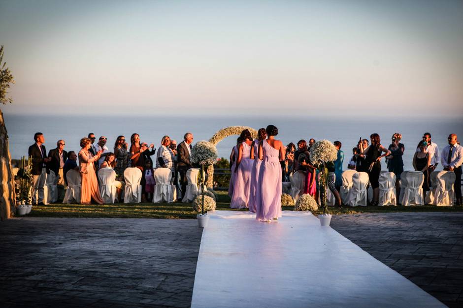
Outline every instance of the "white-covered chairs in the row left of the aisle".
<path id="1" fill-rule="evenodd" d="M 182 202 L 192 202 L 199 194 L 198 189 L 198 174 L 199 169 L 192 168 L 187 171 L 188 185 L 186 187 L 185 196 Z M 142 172 L 138 168 L 127 168 L 124 171 L 124 203 L 140 203 L 142 187 L 140 185 Z M 79 203 L 81 178 L 80 174 L 75 170 L 69 170 L 66 174 L 67 189 L 63 203 Z M 104 168 L 98 171 L 99 192 L 104 203 L 118 202 L 116 173 L 112 169 Z M 178 200 L 177 187 L 171 184 L 172 173 L 168 168 L 157 168 L 154 171 L 154 186 L 152 201 L 157 202 L 175 202 Z M 56 186 L 56 185 L 55 185 Z M 56 201 L 56 199 L 54 200 Z"/>

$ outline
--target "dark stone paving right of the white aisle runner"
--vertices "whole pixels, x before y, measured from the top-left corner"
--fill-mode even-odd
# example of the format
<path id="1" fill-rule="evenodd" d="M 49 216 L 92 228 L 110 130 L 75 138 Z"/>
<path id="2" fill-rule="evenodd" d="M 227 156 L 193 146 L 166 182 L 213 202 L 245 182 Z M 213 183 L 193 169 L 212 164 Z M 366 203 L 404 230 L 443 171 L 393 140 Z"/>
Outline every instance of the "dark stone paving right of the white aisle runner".
<path id="1" fill-rule="evenodd" d="M 331 227 L 447 306 L 463 307 L 463 213 L 339 215 Z"/>

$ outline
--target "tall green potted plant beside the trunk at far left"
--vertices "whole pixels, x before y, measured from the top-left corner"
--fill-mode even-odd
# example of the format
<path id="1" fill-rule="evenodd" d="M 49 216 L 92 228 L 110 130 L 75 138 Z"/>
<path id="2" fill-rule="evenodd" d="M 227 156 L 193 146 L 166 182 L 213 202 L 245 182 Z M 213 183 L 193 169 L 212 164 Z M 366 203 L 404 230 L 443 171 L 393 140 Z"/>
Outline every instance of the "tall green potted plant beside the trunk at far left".
<path id="1" fill-rule="evenodd" d="M 32 157 L 21 158 L 21 168 L 18 170 L 18 193 L 16 194 L 16 210 L 18 215 L 29 214 L 32 209 Z"/>

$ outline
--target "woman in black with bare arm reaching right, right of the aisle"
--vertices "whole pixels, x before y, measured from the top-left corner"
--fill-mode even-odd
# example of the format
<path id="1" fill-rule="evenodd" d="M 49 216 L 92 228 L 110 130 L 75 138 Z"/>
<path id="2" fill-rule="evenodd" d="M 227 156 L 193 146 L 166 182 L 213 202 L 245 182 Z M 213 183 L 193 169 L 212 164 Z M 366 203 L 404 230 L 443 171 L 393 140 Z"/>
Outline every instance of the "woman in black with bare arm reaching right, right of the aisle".
<path id="1" fill-rule="evenodd" d="M 391 151 L 381 145 L 381 138 L 377 133 L 370 135 L 371 145 L 362 154 L 366 155 L 365 161 L 368 167 L 368 176 L 371 188 L 373 188 L 373 201 L 371 205 L 378 205 L 379 199 L 379 174 L 381 173 L 381 158 L 391 155 Z M 384 152 L 385 154 L 381 153 Z"/>

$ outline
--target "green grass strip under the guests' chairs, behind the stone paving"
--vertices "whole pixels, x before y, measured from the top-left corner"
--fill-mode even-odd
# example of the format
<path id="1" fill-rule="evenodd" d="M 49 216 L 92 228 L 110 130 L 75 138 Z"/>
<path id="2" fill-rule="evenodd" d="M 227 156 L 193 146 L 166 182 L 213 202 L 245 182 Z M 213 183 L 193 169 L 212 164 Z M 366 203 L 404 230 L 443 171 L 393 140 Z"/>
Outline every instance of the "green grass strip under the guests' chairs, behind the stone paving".
<path id="1" fill-rule="evenodd" d="M 230 209 L 230 198 L 226 191 L 219 195 L 217 210 Z M 293 207 L 283 207 L 292 211 Z M 463 207 L 425 206 L 384 206 L 384 207 L 330 207 L 331 214 L 387 213 L 387 212 L 463 212 Z M 244 211 L 244 210 L 232 210 Z M 321 213 L 314 213 L 321 214 Z M 93 218 L 167 218 L 194 219 L 197 213 L 189 203 L 117 203 L 109 205 L 50 204 L 33 206 L 30 217 L 93 217 Z"/>

